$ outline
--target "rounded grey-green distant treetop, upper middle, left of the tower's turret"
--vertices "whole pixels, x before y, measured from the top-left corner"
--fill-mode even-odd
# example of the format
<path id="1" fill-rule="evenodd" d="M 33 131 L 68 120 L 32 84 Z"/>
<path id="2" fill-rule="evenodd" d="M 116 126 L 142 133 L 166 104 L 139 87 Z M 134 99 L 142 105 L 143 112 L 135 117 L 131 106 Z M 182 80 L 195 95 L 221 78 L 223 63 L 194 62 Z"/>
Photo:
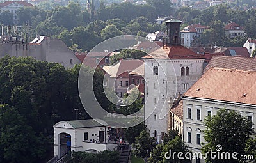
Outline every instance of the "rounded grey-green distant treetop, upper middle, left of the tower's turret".
<path id="1" fill-rule="evenodd" d="M 100 33 L 103 40 L 122 35 L 122 31 L 118 30 L 113 24 L 108 24 Z"/>

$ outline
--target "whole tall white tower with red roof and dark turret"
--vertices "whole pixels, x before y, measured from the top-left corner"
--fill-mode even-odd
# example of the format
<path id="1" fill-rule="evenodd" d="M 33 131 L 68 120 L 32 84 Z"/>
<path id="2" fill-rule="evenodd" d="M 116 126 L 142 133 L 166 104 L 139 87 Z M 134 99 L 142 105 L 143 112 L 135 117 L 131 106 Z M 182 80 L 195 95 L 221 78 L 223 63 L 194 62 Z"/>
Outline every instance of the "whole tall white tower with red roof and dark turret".
<path id="1" fill-rule="evenodd" d="M 177 95 L 185 93 L 202 75 L 204 57 L 180 45 L 180 20 L 166 21 L 165 45 L 145 61 L 145 125 L 160 143 L 168 130 L 168 111 Z"/>

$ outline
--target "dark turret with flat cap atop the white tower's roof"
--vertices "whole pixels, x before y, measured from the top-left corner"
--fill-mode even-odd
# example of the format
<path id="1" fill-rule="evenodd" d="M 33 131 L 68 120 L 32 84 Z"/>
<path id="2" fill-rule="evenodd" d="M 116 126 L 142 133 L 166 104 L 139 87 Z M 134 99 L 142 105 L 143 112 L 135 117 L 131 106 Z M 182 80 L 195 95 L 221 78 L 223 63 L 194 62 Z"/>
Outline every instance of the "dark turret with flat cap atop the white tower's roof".
<path id="1" fill-rule="evenodd" d="M 182 21 L 171 19 L 165 23 L 167 26 L 166 45 L 180 45 L 180 24 Z"/>

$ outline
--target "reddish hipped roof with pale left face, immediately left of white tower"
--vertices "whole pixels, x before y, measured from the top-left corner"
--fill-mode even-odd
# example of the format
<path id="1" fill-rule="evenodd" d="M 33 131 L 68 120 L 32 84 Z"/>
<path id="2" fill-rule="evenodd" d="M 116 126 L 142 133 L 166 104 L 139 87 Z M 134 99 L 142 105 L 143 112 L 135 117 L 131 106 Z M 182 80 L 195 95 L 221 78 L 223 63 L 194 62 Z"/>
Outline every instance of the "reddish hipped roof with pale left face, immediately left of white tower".
<path id="1" fill-rule="evenodd" d="M 139 66 L 143 65 L 144 62 L 138 59 L 122 59 L 113 66 L 104 66 L 105 70 L 111 77 L 118 77 L 119 75 L 126 74 L 135 70 Z"/>

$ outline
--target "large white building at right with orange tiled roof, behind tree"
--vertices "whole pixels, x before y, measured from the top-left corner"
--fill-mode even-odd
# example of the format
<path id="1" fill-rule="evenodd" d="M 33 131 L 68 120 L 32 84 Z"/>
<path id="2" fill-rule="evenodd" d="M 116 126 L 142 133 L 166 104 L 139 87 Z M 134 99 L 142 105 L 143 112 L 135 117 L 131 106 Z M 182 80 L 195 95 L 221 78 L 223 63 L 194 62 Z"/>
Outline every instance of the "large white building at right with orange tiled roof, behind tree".
<path id="1" fill-rule="evenodd" d="M 237 111 L 256 123 L 256 72 L 227 68 L 209 68 L 186 92 L 184 100 L 184 142 L 194 152 L 204 141 L 205 116 L 220 108 Z M 256 128 L 253 125 L 253 128 Z M 193 160 L 193 162 L 204 160 Z"/>

